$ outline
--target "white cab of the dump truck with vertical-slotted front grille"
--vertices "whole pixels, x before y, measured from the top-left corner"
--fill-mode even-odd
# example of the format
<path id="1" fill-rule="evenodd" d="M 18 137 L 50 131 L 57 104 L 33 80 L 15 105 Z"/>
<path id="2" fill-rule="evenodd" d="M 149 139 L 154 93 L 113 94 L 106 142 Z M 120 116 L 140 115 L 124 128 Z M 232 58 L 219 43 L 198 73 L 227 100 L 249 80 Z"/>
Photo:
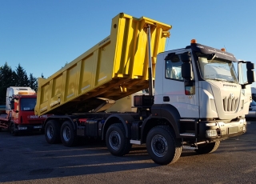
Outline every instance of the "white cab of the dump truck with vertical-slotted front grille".
<path id="1" fill-rule="evenodd" d="M 197 131 L 204 136 L 206 130 L 206 137 L 224 139 L 246 131 L 251 98 L 245 89 L 254 82 L 253 63 L 238 62 L 233 54 L 194 40 L 184 49 L 158 54 L 157 61 L 153 106 L 166 104 L 177 110 L 181 137 L 193 137 Z M 234 63 L 246 65 L 245 83 L 239 82 L 242 71 L 238 67 L 237 74 Z M 197 122 L 201 128 L 187 122 Z"/>

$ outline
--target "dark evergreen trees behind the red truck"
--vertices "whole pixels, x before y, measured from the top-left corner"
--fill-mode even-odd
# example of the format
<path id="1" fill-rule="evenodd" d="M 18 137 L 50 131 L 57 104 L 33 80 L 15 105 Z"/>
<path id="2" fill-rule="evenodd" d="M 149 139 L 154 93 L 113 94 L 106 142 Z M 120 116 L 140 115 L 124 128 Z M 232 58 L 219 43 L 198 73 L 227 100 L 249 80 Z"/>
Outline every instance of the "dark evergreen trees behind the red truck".
<path id="1" fill-rule="evenodd" d="M 26 86 L 37 91 L 38 78 L 35 78 L 33 74 L 26 74 L 26 70 L 20 64 L 12 70 L 6 62 L 0 66 L 0 105 L 6 103 L 6 89 L 10 86 Z"/>

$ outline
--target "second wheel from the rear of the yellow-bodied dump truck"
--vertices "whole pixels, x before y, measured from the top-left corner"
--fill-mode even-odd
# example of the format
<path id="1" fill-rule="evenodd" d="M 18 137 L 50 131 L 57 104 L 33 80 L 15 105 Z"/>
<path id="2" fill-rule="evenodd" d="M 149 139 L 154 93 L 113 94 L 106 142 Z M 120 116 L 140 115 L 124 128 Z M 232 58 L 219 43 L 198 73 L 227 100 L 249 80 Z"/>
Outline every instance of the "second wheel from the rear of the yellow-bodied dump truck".
<path id="1" fill-rule="evenodd" d="M 69 121 L 63 122 L 62 124 L 61 139 L 62 144 L 67 147 L 74 146 L 77 143 L 77 134 Z"/>

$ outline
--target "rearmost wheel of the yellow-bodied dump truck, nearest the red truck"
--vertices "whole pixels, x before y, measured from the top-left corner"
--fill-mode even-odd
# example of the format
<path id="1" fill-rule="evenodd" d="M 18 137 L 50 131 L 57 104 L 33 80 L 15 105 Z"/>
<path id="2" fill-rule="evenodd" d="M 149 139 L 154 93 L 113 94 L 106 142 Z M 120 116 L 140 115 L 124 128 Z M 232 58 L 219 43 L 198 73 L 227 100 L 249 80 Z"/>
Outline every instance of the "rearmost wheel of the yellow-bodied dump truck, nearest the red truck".
<path id="1" fill-rule="evenodd" d="M 58 122 L 50 120 L 46 123 L 45 136 L 46 142 L 49 144 L 56 144 L 61 141 L 60 135 L 61 127 Z"/>

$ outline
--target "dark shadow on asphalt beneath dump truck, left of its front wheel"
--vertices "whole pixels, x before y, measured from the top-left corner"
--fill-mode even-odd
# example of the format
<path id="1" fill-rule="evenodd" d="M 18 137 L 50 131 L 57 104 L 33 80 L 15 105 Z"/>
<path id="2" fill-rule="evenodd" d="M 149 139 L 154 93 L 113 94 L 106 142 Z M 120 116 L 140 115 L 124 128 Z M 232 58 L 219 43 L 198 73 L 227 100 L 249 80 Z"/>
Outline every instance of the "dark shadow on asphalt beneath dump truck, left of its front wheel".
<path id="1" fill-rule="evenodd" d="M 27 135 L 26 135 L 27 136 Z M 44 136 L 40 137 L 41 140 Z M 104 174 L 126 170 L 139 170 L 158 167 L 146 153 L 146 147 L 134 146 L 130 153 L 123 157 L 115 157 L 109 153 L 105 142 L 84 139 L 74 147 L 62 144 L 50 145 L 44 142 L 40 146 L 24 146 L 19 152 L 18 160 L 11 166 L 7 162 L 1 167 L 12 168 L 0 170 L 0 182 L 17 182 L 34 179 L 62 178 L 86 174 Z M 33 149 L 33 150 L 31 150 Z M 30 155 L 27 157 L 27 155 Z"/>

